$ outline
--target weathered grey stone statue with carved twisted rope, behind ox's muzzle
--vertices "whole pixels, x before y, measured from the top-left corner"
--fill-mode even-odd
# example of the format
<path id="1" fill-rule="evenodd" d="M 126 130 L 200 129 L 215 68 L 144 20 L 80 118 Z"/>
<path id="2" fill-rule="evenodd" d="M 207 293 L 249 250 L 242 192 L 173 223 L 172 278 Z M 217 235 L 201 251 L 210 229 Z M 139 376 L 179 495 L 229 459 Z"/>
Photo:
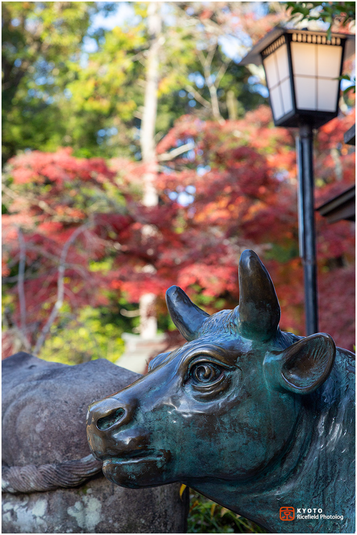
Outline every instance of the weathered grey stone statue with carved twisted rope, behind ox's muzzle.
<path id="1" fill-rule="evenodd" d="M 88 404 L 139 378 L 104 359 L 69 366 L 18 353 L 3 361 L 2 533 L 185 531 L 179 483 L 120 488 L 88 448 Z"/>

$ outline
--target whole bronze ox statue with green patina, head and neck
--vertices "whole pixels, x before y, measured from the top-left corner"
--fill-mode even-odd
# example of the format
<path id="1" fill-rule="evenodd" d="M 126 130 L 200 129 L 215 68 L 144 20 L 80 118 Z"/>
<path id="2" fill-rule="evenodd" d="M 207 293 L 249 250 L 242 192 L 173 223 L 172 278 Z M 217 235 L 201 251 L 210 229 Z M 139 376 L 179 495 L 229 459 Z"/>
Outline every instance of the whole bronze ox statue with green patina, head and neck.
<path id="1" fill-rule="evenodd" d="M 169 288 L 187 343 L 89 406 L 90 449 L 124 487 L 180 481 L 273 533 L 353 533 L 354 355 L 280 331 L 253 251 L 239 287 L 239 307 L 212 316 Z"/>

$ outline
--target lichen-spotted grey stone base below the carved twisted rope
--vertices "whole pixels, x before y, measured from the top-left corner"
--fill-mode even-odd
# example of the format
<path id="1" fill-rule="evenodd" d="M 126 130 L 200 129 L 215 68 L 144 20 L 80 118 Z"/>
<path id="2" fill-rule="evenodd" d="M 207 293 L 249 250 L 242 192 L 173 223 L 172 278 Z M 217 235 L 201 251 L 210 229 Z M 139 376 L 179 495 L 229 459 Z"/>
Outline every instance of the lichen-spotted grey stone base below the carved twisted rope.
<path id="1" fill-rule="evenodd" d="M 127 489 L 102 475 L 76 488 L 5 494 L 2 533 L 186 533 L 180 484 Z"/>

